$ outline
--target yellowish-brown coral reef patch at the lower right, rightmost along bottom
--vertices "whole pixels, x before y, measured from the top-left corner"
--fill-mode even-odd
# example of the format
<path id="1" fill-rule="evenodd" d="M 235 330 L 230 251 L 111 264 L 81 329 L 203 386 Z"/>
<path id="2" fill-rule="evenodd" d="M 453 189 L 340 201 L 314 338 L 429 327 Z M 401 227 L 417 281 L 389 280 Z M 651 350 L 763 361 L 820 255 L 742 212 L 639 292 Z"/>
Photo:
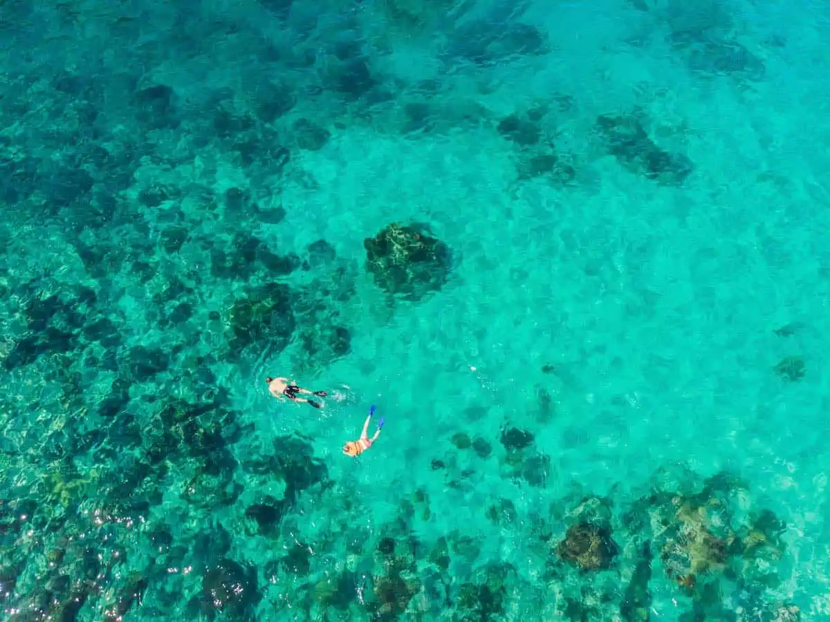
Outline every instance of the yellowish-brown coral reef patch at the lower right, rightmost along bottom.
<path id="1" fill-rule="evenodd" d="M 746 492 L 739 479 L 716 474 L 685 492 L 657 488 L 622 517 L 650 543 L 663 575 L 690 601 L 683 620 L 734 615 L 732 594 L 740 595 L 739 619 L 773 620 L 778 611 L 798 610 L 775 601 L 770 591 L 786 580 L 787 566 L 779 564 L 786 527 L 769 509 L 746 513 Z"/>

